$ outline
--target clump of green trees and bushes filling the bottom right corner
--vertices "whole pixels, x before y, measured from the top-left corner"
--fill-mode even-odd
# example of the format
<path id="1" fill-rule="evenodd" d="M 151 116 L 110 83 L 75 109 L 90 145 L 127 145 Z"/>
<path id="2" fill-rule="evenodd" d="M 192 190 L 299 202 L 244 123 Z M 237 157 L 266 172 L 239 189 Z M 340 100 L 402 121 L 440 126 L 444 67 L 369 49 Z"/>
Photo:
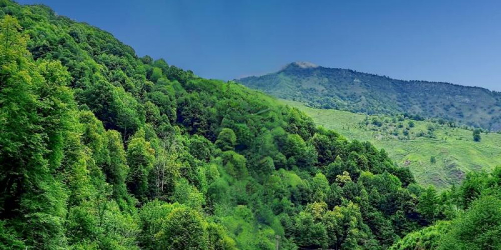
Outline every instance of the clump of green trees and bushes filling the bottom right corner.
<path id="1" fill-rule="evenodd" d="M 499 175 L 501 167 L 492 174 L 468 174 L 456 189 L 437 195 L 428 188 L 421 194 L 419 209 L 433 216 L 434 225 L 407 234 L 394 244 L 392 250 L 406 249 L 499 249 L 501 241 L 501 198 Z M 457 207 L 464 207 L 457 211 Z M 438 215 L 438 217 L 437 217 Z"/>

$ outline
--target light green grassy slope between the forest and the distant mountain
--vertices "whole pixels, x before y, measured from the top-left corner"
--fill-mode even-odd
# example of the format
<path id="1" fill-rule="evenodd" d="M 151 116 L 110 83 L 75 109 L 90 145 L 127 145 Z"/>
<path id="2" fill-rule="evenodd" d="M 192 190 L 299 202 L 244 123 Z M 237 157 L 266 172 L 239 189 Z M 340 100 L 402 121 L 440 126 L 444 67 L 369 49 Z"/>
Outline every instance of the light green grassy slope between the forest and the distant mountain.
<path id="1" fill-rule="evenodd" d="M 491 170 L 501 162 L 501 134 L 481 133 L 481 141 L 473 141 L 472 131 L 457 127 L 448 127 L 431 121 L 414 121 L 409 128 L 409 136 L 402 131 L 410 120 L 393 122 L 389 116 L 368 116 L 365 114 L 340 111 L 335 109 L 317 109 L 307 107 L 300 102 L 282 100 L 285 104 L 298 107 L 308 113 L 318 125 L 343 134 L 349 140 L 368 140 L 379 148 L 384 148 L 390 157 L 400 166 L 410 168 L 418 183 L 432 184 L 445 188 L 458 183 L 464 174 L 472 170 Z M 378 127 L 369 121 L 377 117 L 383 120 Z M 384 121 L 386 120 L 386 121 Z M 398 123 L 404 127 L 399 128 Z M 419 137 L 420 131 L 434 129 L 434 137 Z M 399 131 L 394 135 L 393 130 Z M 431 156 L 436 162 L 431 163 Z"/>

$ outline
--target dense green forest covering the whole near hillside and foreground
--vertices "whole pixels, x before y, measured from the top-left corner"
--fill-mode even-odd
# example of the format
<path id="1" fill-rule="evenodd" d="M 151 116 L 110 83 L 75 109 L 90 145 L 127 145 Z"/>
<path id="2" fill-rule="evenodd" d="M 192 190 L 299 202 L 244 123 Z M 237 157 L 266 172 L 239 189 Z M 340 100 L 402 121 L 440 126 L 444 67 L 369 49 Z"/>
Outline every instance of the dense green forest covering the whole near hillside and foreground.
<path id="1" fill-rule="evenodd" d="M 439 194 L 273 97 L 47 6 L 0 16 L 0 249 L 501 246 L 500 169 Z"/>

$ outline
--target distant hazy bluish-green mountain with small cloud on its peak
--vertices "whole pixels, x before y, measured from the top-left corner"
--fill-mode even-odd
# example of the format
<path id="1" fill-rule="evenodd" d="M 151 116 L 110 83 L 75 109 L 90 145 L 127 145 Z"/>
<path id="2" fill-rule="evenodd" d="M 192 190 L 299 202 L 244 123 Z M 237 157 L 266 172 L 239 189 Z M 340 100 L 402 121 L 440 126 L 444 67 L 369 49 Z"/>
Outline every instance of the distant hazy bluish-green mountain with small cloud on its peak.
<path id="1" fill-rule="evenodd" d="M 501 129 L 501 93 L 444 82 L 406 81 L 350 69 L 293 62 L 275 73 L 236 80 L 311 107 L 366 114 L 444 118 L 468 126 Z"/>

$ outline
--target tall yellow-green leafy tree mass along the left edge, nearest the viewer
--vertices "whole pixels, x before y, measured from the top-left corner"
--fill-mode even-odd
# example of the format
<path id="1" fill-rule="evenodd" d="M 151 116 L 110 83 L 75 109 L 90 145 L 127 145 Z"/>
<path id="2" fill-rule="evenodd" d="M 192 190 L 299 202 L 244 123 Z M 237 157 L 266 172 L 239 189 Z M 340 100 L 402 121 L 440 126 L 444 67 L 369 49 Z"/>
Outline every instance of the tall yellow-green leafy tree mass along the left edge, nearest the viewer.
<path id="1" fill-rule="evenodd" d="M 68 195 L 56 174 L 65 136 L 75 131 L 69 73 L 60 62 L 34 62 L 18 20 L 0 20 L 0 210 L 25 244 L 65 242 Z"/>

